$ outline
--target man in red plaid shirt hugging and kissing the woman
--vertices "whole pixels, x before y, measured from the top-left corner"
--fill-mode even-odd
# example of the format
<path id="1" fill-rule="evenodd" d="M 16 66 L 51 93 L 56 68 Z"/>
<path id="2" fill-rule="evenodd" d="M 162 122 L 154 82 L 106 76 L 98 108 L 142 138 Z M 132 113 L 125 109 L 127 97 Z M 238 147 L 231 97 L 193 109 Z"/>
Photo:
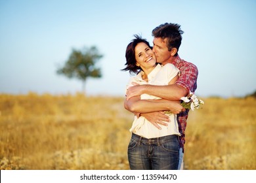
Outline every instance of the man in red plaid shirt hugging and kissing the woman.
<path id="1" fill-rule="evenodd" d="M 181 97 L 188 95 L 190 92 L 195 92 L 197 88 L 196 80 L 198 78 L 198 69 L 196 65 L 184 61 L 178 55 L 179 46 L 181 46 L 182 33 L 181 25 L 179 24 L 161 24 L 152 31 L 154 36 L 153 40 L 153 52 L 156 55 L 158 63 L 165 65 L 166 63 L 172 63 L 177 67 L 181 73 L 179 79 L 175 84 L 167 86 L 153 86 L 153 85 L 136 85 L 127 90 L 127 100 L 125 100 L 125 108 L 130 110 L 132 101 L 129 101 L 131 97 L 142 95 L 147 93 L 170 101 L 179 101 Z M 130 110 L 131 111 L 131 110 Z M 172 112 L 177 114 L 177 120 L 179 124 L 179 132 L 181 136 L 180 141 L 180 157 L 179 168 L 183 169 L 183 155 L 184 155 L 184 143 L 185 143 L 185 129 L 186 120 L 188 118 L 189 110 L 177 110 L 173 109 Z M 179 114 L 178 114 L 179 113 Z M 151 112 L 140 113 L 140 116 L 144 116 L 153 125 L 161 129 L 160 125 L 165 125 L 168 122 L 167 116 L 164 112 Z"/>

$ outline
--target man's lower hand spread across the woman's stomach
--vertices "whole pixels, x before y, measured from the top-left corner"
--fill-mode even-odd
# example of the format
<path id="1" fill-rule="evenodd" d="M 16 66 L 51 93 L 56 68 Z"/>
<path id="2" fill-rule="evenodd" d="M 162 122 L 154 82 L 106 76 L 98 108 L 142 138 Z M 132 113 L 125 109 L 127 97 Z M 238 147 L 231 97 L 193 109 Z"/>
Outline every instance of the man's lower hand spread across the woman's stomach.
<path id="1" fill-rule="evenodd" d="M 143 113 L 143 114 L 140 114 L 140 116 L 143 116 L 144 118 L 146 118 L 150 123 L 152 123 L 158 129 L 161 129 L 160 125 L 167 126 L 168 124 L 166 122 L 170 122 L 169 116 L 165 115 L 165 112 L 163 111 Z"/>

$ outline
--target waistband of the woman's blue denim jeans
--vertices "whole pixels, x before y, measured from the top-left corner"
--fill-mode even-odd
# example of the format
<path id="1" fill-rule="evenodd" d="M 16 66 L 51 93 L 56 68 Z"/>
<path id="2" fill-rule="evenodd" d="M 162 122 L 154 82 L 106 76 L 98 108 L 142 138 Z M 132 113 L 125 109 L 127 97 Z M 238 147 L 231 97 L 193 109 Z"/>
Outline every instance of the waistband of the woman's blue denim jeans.
<path id="1" fill-rule="evenodd" d="M 142 144 L 158 144 L 159 145 L 166 141 L 175 141 L 175 140 L 179 141 L 178 135 L 167 135 L 167 136 L 163 136 L 163 137 L 147 139 L 145 137 L 140 137 L 140 135 L 133 133 L 131 135 L 131 138 L 134 139 L 135 141 L 138 141 L 139 144 L 142 143 Z"/>

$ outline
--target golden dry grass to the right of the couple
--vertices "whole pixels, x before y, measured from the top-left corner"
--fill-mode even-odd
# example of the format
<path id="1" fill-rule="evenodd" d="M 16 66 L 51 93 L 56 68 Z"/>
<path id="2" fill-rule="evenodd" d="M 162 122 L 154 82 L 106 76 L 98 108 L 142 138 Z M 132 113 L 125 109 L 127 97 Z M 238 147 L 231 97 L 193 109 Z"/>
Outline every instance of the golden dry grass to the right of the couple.
<path id="1" fill-rule="evenodd" d="M 186 169 L 256 169 L 256 99 L 205 99 L 190 112 Z"/>

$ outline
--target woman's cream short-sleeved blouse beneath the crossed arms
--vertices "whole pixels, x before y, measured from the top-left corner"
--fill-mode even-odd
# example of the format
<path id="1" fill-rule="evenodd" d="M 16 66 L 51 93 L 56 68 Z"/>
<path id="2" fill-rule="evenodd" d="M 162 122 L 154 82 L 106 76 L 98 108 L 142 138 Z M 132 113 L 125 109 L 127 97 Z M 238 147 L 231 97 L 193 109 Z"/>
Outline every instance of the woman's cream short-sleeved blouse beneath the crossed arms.
<path id="1" fill-rule="evenodd" d="M 148 82 L 142 79 L 142 71 L 134 77 L 131 77 L 127 84 L 127 88 L 132 85 L 132 82 L 136 82 L 137 84 L 151 84 L 151 85 L 168 85 L 169 82 L 179 73 L 179 69 L 177 69 L 173 64 L 167 63 L 165 65 L 156 65 L 153 71 L 148 75 Z M 142 94 L 140 95 L 140 99 L 160 99 L 160 97 L 156 97 L 153 95 Z M 169 116 L 170 122 L 167 122 L 167 126 L 161 125 L 161 129 L 156 128 L 152 123 L 150 123 L 146 118 L 140 116 L 133 121 L 133 125 L 130 129 L 131 132 L 140 135 L 141 137 L 145 137 L 147 139 L 163 137 L 166 135 L 181 135 L 179 133 L 179 126 L 177 123 L 177 115 L 176 114 L 165 114 Z"/>

